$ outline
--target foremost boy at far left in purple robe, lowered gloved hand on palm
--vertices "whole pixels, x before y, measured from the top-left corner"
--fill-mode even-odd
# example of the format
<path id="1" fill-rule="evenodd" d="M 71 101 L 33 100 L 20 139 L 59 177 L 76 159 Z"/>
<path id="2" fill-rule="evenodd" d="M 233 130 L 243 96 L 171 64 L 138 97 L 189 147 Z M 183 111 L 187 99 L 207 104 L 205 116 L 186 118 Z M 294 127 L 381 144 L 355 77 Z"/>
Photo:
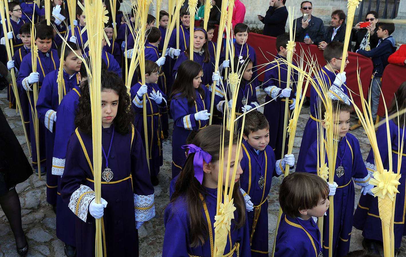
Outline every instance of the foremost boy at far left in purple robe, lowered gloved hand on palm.
<path id="1" fill-rule="evenodd" d="M 39 156 L 37 160 L 37 148 L 34 134 L 34 121 L 32 117 L 32 110 L 35 106 L 34 95 L 32 93 L 32 84 L 37 83 L 38 90 L 41 92 L 41 86 L 44 81 L 45 75 L 59 67 L 58 52 L 51 49 L 52 39 L 54 38 L 54 31 L 51 26 L 39 24 L 35 26 L 36 38 L 35 44 L 38 47 L 37 58 L 37 72 L 32 72 L 31 53 L 28 53 L 21 62 L 20 70 L 17 76 L 17 86 L 22 91 L 29 91 L 31 104 L 28 107 L 30 117 L 30 136 L 31 136 L 31 152 L 32 152 L 32 167 L 38 174 L 38 161 L 41 162 L 41 174 L 45 174 L 45 126 L 44 123 L 39 122 Z M 47 184 L 47 201 L 50 204 L 56 204 L 56 181 L 55 184 Z M 52 197 L 51 197 L 52 196 Z"/>

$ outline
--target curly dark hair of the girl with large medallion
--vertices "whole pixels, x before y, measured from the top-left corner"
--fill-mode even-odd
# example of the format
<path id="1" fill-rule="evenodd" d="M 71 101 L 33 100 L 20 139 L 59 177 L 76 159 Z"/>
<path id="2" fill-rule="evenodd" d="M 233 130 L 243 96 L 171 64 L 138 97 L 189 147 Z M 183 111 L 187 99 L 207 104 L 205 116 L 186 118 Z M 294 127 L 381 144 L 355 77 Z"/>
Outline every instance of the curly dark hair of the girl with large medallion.
<path id="1" fill-rule="evenodd" d="M 102 72 L 102 91 L 113 90 L 119 95 L 119 107 L 117 116 L 114 118 L 114 129 L 120 134 L 127 134 L 131 131 L 134 121 L 134 112 L 130 108 L 131 100 L 127 94 L 123 80 L 113 72 Z M 75 125 L 84 134 L 92 134 L 92 112 L 90 104 L 89 83 L 83 81 L 80 85 L 82 94 L 79 98 L 78 110 L 75 118 Z"/>

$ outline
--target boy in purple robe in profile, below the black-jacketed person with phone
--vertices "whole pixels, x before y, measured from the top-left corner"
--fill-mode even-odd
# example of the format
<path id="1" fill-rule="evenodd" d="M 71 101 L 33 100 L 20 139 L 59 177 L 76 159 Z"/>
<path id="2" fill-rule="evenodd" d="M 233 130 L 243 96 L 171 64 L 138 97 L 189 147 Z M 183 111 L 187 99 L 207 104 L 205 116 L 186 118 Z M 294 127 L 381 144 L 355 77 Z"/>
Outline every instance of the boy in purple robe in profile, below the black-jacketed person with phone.
<path id="1" fill-rule="evenodd" d="M 262 84 L 263 91 L 266 93 L 265 102 L 268 102 L 268 104 L 263 106 L 263 114 L 268 122 L 273 124 L 269 128 L 269 145 L 274 149 L 277 158 L 287 153 L 287 143 L 289 142 L 289 136 L 286 136 L 285 153 L 282 153 L 283 131 L 286 130 L 286 128 L 283 127 L 286 98 L 289 98 L 287 117 L 291 116 L 290 110 L 293 110 L 296 105 L 298 73 L 293 69 L 291 70 L 289 89 L 286 88 L 287 64 L 284 62 L 287 56 L 286 45 L 288 41 L 289 34 L 287 33 L 281 34 L 276 38 L 276 49 L 278 49 L 279 52 L 275 59 L 266 67 Z M 294 48 L 293 51 L 295 52 L 296 48 Z M 292 64 L 297 66 L 294 62 L 292 62 Z"/>

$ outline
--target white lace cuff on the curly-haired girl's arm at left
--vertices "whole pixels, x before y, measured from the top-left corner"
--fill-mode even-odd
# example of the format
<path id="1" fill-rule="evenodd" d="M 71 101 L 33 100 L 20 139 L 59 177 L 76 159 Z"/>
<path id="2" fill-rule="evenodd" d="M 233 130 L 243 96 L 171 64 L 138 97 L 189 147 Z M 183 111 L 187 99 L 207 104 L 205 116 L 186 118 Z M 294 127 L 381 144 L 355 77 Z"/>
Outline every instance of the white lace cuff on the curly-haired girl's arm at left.
<path id="1" fill-rule="evenodd" d="M 95 191 L 88 186 L 80 185 L 80 187 L 72 193 L 68 207 L 79 219 L 86 222 L 89 204 L 94 198 Z"/>

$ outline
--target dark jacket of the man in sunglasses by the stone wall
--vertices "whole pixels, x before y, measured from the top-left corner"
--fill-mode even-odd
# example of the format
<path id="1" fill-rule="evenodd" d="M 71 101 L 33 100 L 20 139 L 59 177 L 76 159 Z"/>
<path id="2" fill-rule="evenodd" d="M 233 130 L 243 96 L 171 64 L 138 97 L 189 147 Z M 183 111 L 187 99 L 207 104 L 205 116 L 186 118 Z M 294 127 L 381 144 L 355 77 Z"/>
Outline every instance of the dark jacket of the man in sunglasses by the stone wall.
<path id="1" fill-rule="evenodd" d="M 302 28 L 302 17 L 299 17 L 295 20 L 296 24 L 296 37 L 295 40 L 298 42 L 303 42 L 304 36 L 309 34 L 311 40 L 313 40 L 314 45 L 318 45 L 324 40 L 324 24 L 322 19 L 311 16 L 309 21 L 309 26 L 307 28 Z"/>

